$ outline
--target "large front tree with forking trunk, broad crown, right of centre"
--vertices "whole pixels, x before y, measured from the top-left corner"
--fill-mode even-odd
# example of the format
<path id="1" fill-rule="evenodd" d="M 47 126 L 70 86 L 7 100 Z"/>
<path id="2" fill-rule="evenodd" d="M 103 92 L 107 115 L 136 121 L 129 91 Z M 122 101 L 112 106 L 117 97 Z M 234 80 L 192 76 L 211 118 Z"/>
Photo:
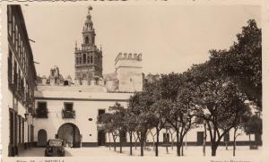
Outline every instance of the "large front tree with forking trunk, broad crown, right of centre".
<path id="1" fill-rule="evenodd" d="M 246 98 L 238 85 L 223 75 L 216 64 L 198 64 L 189 72 L 193 75 L 192 83 L 195 87 L 192 93 L 195 115 L 207 124 L 212 156 L 215 156 L 221 138 L 239 123 L 240 116 L 249 107 L 244 103 Z"/>

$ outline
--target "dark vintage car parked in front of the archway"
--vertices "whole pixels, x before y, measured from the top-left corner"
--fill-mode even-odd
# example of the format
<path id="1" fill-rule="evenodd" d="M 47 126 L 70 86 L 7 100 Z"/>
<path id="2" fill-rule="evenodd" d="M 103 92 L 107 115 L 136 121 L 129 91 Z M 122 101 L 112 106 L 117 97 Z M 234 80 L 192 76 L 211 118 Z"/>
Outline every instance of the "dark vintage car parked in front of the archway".
<path id="1" fill-rule="evenodd" d="M 64 141 L 60 139 L 48 140 L 45 157 L 65 157 Z"/>

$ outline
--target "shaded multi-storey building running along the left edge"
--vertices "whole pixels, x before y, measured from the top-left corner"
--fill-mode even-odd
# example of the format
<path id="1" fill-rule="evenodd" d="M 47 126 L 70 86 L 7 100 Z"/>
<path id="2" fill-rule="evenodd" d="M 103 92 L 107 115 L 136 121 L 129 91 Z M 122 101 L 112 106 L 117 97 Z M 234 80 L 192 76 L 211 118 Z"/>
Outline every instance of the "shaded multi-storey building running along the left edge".
<path id="1" fill-rule="evenodd" d="M 34 90 L 37 74 L 20 5 L 7 5 L 7 25 L 8 156 L 15 156 L 34 142 Z"/>

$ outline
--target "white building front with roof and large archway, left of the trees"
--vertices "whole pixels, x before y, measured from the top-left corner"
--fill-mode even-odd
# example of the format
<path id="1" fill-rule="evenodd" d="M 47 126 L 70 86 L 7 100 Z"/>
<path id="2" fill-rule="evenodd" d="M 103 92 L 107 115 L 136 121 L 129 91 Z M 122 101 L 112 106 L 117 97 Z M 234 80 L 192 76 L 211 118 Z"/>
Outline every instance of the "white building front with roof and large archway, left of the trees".
<path id="1" fill-rule="evenodd" d="M 38 146 L 48 139 L 63 139 L 67 146 L 105 144 L 105 132 L 97 129 L 99 115 L 116 102 L 127 106 L 131 93 L 108 93 L 103 86 L 38 86 L 35 92 L 35 136 Z"/>

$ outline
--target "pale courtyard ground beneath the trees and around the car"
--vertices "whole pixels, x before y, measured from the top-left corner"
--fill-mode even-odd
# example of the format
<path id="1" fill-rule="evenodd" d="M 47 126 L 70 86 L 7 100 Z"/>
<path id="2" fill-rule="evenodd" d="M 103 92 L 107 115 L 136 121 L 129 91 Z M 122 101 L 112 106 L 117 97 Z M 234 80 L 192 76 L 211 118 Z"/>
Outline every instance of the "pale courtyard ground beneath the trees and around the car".
<path id="1" fill-rule="evenodd" d="M 111 147 L 96 147 L 96 148 L 65 148 L 66 157 L 91 157 L 91 156 L 129 156 L 129 147 L 123 148 L 123 153 L 119 153 L 119 148 L 116 151 Z M 19 157 L 43 157 L 45 148 L 31 148 L 27 149 L 19 154 Z M 203 148 L 202 147 L 187 147 L 184 149 L 184 155 L 187 157 L 203 157 Z M 236 156 L 237 157 L 246 157 L 246 156 L 262 156 L 262 147 L 259 149 L 249 149 L 247 146 L 237 147 Z M 140 156 L 140 148 L 133 148 L 133 155 Z M 144 150 L 145 157 L 154 157 L 155 152 L 152 147 L 147 147 Z M 165 147 L 159 148 L 160 157 L 176 157 L 176 148 L 169 148 L 169 153 L 166 152 Z M 210 157 L 211 149 L 206 147 L 206 156 Z M 229 147 L 226 150 L 225 147 L 219 147 L 217 149 L 217 156 L 219 157 L 232 157 L 232 147 Z"/>

